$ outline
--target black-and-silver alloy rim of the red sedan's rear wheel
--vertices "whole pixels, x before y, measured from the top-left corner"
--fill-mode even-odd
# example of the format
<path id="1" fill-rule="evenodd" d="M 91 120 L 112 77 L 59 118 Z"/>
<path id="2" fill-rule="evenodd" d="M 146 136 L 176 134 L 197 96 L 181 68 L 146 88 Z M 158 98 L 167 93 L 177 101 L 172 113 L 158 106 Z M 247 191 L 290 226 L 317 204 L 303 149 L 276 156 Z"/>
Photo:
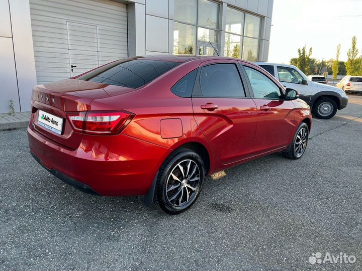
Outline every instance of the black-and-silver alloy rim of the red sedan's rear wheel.
<path id="1" fill-rule="evenodd" d="M 167 177 L 167 201 L 176 207 L 189 203 L 197 194 L 199 184 L 200 169 L 196 162 L 190 159 L 179 162 Z"/>

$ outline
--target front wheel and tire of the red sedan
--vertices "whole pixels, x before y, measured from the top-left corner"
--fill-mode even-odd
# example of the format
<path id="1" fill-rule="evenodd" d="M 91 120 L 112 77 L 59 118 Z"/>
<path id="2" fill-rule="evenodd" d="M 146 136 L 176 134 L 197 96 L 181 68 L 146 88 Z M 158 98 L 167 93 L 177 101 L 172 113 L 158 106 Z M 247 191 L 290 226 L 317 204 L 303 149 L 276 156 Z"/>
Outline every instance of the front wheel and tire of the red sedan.
<path id="1" fill-rule="evenodd" d="M 305 122 L 302 122 L 297 128 L 291 144 L 285 151 L 282 152 L 283 156 L 294 160 L 301 158 L 307 148 L 308 137 L 308 125 Z"/>

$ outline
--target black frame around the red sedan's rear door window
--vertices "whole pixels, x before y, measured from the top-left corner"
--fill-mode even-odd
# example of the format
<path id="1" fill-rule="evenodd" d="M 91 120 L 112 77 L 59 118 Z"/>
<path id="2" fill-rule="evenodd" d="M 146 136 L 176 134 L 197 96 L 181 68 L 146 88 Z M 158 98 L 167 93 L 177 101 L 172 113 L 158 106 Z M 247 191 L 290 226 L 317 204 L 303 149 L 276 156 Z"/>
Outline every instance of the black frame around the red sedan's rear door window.
<path id="1" fill-rule="evenodd" d="M 196 80 L 195 80 L 195 84 L 194 84 L 194 89 L 192 91 L 192 95 L 191 98 L 211 98 L 211 99 L 250 99 L 252 98 L 249 92 L 249 87 L 247 85 L 247 81 L 245 78 L 245 74 L 243 73 L 241 67 L 240 67 L 240 63 L 236 62 L 236 61 L 217 61 L 217 62 L 210 62 L 210 61 L 206 61 L 207 63 L 201 63 L 199 68 L 198 68 L 198 73 L 196 75 Z M 202 92 L 202 88 L 201 88 L 201 70 L 203 67 L 207 67 L 210 65 L 216 65 L 216 64 L 232 64 L 235 65 L 237 72 L 239 73 L 239 78 L 241 80 L 241 84 L 243 86 L 243 91 L 244 91 L 244 95 L 243 97 L 241 96 L 218 96 L 218 97 L 213 97 L 213 96 L 204 96 L 203 92 Z"/>

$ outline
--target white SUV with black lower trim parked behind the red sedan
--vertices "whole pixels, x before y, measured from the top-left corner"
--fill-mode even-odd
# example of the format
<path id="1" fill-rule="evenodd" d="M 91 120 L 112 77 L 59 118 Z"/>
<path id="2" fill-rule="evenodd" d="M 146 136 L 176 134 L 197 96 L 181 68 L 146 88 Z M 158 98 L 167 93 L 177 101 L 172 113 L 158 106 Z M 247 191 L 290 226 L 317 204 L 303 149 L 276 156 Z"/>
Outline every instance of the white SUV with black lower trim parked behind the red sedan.
<path id="1" fill-rule="evenodd" d="M 299 92 L 299 98 L 305 100 L 318 118 L 328 119 L 335 115 L 337 109 L 347 106 L 348 97 L 339 88 L 312 82 L 296 66 L 255 62 L 261 68 L 272 74 L 285 88 L 294 88 Z"/>

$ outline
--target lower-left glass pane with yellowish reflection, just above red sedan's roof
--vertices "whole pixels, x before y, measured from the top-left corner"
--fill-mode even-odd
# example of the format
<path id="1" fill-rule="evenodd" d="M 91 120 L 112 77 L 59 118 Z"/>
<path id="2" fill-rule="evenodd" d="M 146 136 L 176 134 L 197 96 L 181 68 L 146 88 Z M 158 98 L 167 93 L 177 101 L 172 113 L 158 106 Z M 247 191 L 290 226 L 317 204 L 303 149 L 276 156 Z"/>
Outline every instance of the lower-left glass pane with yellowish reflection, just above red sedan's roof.
<path id="1" fill-rule="evenodd" d="M 196 26 L 173 23 L 173 53 L 195 55 Z"/>

